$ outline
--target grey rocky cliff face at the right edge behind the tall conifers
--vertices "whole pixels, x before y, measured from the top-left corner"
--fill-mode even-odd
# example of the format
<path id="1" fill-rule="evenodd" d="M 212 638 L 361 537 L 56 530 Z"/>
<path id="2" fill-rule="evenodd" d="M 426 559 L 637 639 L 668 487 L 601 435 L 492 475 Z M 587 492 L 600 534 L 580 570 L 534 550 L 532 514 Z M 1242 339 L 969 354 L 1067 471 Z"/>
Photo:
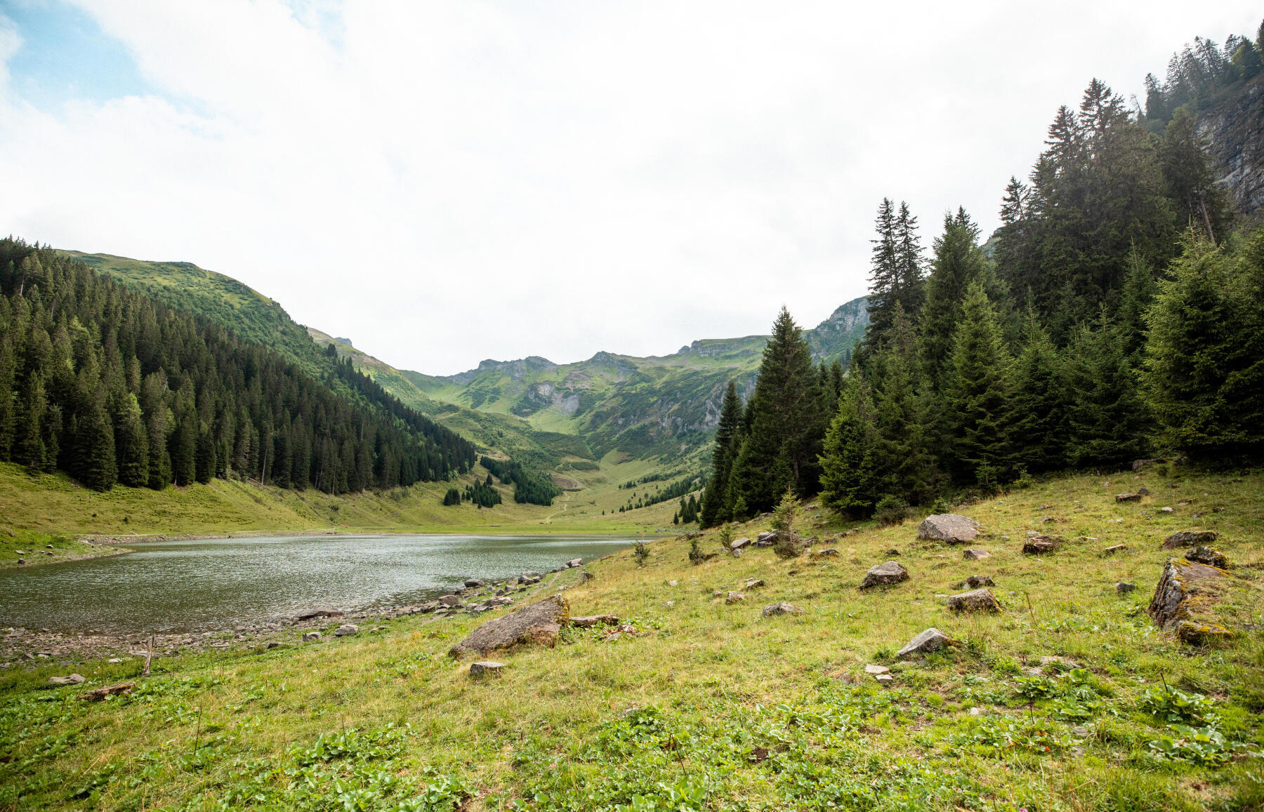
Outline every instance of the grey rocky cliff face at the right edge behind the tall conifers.
<path id="1" fill-rule="evenodd" d="M 1211 144 L 1220 183 L 1240 215 L 1264 216 L 1264 73 L 1243 92 L 1198 115 L 1198 131 Z"/>

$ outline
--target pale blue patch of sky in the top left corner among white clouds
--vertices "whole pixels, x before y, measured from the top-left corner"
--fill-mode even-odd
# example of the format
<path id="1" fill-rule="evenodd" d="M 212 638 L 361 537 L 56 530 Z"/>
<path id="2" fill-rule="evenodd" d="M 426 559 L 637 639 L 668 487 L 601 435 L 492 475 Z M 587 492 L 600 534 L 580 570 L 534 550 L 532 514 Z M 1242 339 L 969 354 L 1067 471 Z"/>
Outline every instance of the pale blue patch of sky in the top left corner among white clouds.
<path id="1" fill-rule="evenodd" d="M 157 95 L 126 45 L 88 14 L 61 0 L 0 0 L 21 45 L 8 62 L 14 96 L 39 110 L 67 101 L 104 102 Z"/>

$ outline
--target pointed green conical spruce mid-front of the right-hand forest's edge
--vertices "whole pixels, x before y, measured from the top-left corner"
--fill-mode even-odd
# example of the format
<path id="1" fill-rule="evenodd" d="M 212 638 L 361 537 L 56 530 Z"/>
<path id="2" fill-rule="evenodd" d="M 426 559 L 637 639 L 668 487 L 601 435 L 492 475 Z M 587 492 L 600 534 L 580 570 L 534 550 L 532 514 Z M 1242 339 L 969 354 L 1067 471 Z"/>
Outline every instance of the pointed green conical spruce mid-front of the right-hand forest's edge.
<path id="1" fill-rule="evenodd" d="M 981 280 L 969 283 L 953 335 L 944 414 L 949 465 L 961 482 L 985 489 L 1007 475 L 1011 357 Z"/>

